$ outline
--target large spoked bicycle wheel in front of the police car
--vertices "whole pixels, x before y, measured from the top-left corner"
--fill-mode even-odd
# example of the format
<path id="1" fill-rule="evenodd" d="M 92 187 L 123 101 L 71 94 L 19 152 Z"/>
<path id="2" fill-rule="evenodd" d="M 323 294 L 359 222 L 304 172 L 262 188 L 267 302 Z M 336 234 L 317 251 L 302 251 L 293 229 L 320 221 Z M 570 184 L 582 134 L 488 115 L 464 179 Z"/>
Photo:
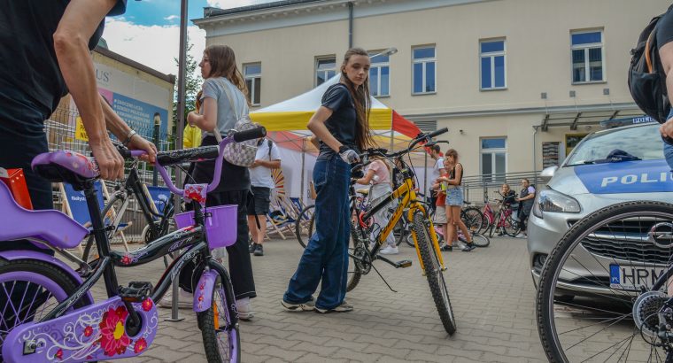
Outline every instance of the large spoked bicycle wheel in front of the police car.
<path id="1" fill-rule="evenodd" d="M 625 292 L 624 289 L 613 286 L 615 277 L 612 273 L 613 265 L 611 265 L 613 261 L 617 264 L 617 272 L 619 272 L 620 266 L 641 266 L 641 264 L 645 266 L 645 259 L 653 258 L 646 257 L 645 251 L 651 251 L 652 253 L 649 256 L 654 256 L 658 260 L 670 261 L 671 256 L 673 256 L 671 247 L 668 247 L 668 255 L 662 255 L 661 248 L 657 245 L 652 246 L 654 242 L 646 239 L 649 234 L 643 234 L 643 231 L 653 230 L 650 228 L 658 224 L 657 220 L 670 224 L 670 221 L 673 220 L 673 205 L 647 201 L 610 205 L 592 212 L 592 214 L 576 222 L 556 244 L 545 260 L 536 296 L 538 333 L 549 361 L 580 361 L 582 358 L 577 357 L 578 354 L 592 354 L 588 359 L 605 359 L 608 353 L 609 356 L 606 360 L 618 359 L 622 361 L 622 358 L 625 357 L 625 359 L 631 358 L 634 359 L 633 361 L 640 362 L 658 361 L 659 359 L 664 361 L 663 358 L 666 357 L 666 353 L 661 352 L 662 350 L 657 351 L 661 348 L 654 347 L 644 341 L 646 336 L 641 334 L 640 327 L 636 326 L 634 321 L 631 321 L 634 319 L 633 301 L 635 298 L 633 294 L 642 294 L 643 291 L 636 289 L 630 294 Z M 615 230 L 617 231 L 616 234 Z M 625 231 L 629 231 L 629 233 L 627 234 Z M 643 235 L 643 237 L 638 239 L 638 234 Z M 591 250 L 591 253 L 586 251 L 586 249 L 591 249 L 592 245 L 601 246 L 607 245 L 606 243 L 612 246 L 609 250 Z M 642 254 L 637 250 L 639 246 L 643 248 Z M 587 256 L 589 259 L 586 259 Z M 633 261 L 630 259 L 633 259 Z M 638 259 L 643 260 L 639 261 Z M 586 267 L 589 266 L 589 263 L 591 263 L 591 268 Z M 609 266 L 603 266 L 603 264 Z M 607 267 L 605 272 L 600 269 L 600 266 L 602 268 Z M 670 268 L 670 262 L 664 266 Z M 571 267 L 572 270 L 570 270 Z M 582 268 L 586 272 L 581 271 Z M 600 273 L 595 271 L 600 271 Z M 563 275 L 561 276 L 561 274 Z M 603 274 L 607 274 L 607 277 L 603 278 Z M 632 278 L 635 279 L 635 270 Z M 584 289 L 570 290 L 575 295 L 579 295 L 572 299 L 567 292 L 568 289 L 573 288 L 569 288 L 568 285 L 577 281 L 577 279 L 581 279 Z M 560 282 L 560 280 L 563 281 Z M 622 287 L 621 277 L 617 276 L 617 281 L 619 282 L 617 286 Z M 635 282 L 633 283 L 635 286 Z M 647 289 L 645 293 L 650 292 Z M 664 297 L 661 298 L 668 299 L 666 294 L 663 294 Z M 601 304 L 605 304 L 604 300 L 609 301 L 609 310 L 602 307 Z M 561 311 L 557 316 L 556 312 L 560 309 L 560 306 L 569 306 L 575 312 L 574 315 L 580 319 L 584 315 L 592 313 L 588 317 L 591 319 L 589 325 L 586 325 L 587 323 L 582 324 L 582 321 L 569 321 L 569 314 L 566 312 Z M 654 310 L 654 312 L 656 311 Z M 573 316 L 571 315 L 570 318 L 573 318 Z M 617 325 L 624 320 L 626 320 L 626 327 L 622 327 L 623 323 Z M 572 330 L 568 331 L 572 333 L 569 336 L 566 334 L 568 332 L 565 332 L 565 330 L 568 330 L 566 326 L 568 321 L 572 327 Z M 655 323 L 655 325 L 658 324 L 659 321 Z M 584 330 L 596 325 L 604 328 L 594 334 L 591 334 L 592 330 Z M 559 328 L 557 327 L 563 329 L 564 333 L 558 334 Z M 602 334 L 597 336 L 598 333 Z M 626 335 L 625 339 L 621 339 L 623 335 Z M 584 340 L 593 339 L 596 336 L 596 339 L 603 338 L 603 340 L 596 343 L 569 341 L 573 336 L 584 336 Z M 566 341 L 569 341 L 568 344 L 564 344 Z M 625 344 L 620 344 L 620 342 L 629 342 L 628 347 L 624 348 L 626 351 L 623 351 L 622 354 L 619 351 L 623 349 Z M 591 350 L 599 345 L 607 347 L 607 349 L 598 352 Z M 647 354 L 647 351 L 650 354 L 649 359 L 646 356 L 638 355 Z M 656 357 L 653 357 L 653 352 Z M 624 353 L 626 353 L 625 356 Z M 601 354 L 603 354 L 603 357 L 600 357 Z M 666 361 L 669 360 L 666 359 Z"/>

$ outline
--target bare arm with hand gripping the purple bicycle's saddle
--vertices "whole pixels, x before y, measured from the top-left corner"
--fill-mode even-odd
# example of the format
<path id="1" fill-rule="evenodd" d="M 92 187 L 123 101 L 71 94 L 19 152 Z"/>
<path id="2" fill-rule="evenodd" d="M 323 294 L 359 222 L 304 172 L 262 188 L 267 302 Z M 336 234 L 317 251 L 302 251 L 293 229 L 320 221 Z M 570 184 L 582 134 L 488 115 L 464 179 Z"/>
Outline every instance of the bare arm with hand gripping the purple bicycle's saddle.
<path id="1" fill-rule="evenodd" d="M 81 114 L 89 145 L 104 179 L 124 176 L 124 160 L 105 130 L 103 109 L 97 92 L 89 38 L 116 0 L 72 0 L 54 33 L 54 50 L 70 95 Z M 39 62 L 39 59 L 35 59 Z M 115 134 L 116 135 L 116 134 Z"/>

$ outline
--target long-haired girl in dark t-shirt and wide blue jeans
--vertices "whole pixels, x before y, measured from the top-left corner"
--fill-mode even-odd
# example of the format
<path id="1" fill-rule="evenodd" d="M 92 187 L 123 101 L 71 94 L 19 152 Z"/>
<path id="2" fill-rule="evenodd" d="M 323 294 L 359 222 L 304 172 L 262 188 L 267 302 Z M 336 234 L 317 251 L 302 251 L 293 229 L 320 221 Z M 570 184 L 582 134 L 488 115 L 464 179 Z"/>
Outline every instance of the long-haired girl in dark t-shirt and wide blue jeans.
<path id="1" fill-rule="evenodd" d="M 358 151 L 374 144 L 368 120 L 370 64 L 367 51 L 346 51 L 341 80 L 325 91 L 321 107 L 308 121 L 308 129 L 320 140 L 320 155 L 313 168 L 316 225 L 282 297 L 285 309 L 352 311 L 344 299 L 351 229 L 348 185 L 351 164 L 359 160 Z M 321 293 L 313 302 L 321 280 Z"/>

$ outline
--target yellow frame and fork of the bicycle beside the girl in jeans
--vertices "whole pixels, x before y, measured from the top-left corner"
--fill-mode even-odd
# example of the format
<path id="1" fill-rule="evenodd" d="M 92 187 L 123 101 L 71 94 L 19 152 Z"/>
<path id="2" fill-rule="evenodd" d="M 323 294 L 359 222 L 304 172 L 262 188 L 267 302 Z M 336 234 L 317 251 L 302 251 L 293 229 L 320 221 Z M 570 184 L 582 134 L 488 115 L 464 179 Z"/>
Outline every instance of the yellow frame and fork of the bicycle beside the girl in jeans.
<path id="1" fill-rule="evenodd" d="M 409 212 L 407 212 L 406 215 L 406 220 L 409 220 L 409 223 L 414 224 L 414 212 L 417 210 L 421 210 L 423 215 L 428 218 L 428 212 L 425 210 L 423 205 L 416 200 L 416 191 L 414 190 L 414 184 L 412 182 L 411 177 L 407 177 L 405 179 L 405 182 L 399 186 L 398 189 L 393 190 L 392 195 L 390 197 L 390 200 L 398 200 L 398 208 L 395 210 L 393 213 L 391 220 L 388 221 L 388 224 L 383 227 L 383 230 L 381 233 L 376 237 L 376 243 L 379 245 L 383 245 L 385 242 L 385 239 L 392 233 L 393 228 L 395 228 L 395 225 L 398 224 L 398 220 L 402 218 L 402 215 L 404 214 L 405 208 L 409 208 Z M 442 266 L 442 271 L 446 269 L 444 266 L 444 259 L 442 258 L 442 252 L 439 248 L 439 243 L 437 242 L 437 234 L 435 233 L 435 227 L 432 224 L 432 220 L 429 220 L 429 234 L 430 234 L 430 240 L 432 241 L 432 246 L 435 248 L 435 251 L 437 253 L 438 259 L 439 259 L 439 264 Z M 425 266 L 423 266 L 423 260 L 421 259 L 421 251 L 418 249 L 418 238 L 416 236 L 416 232 L 414 231 L 414 228 L 411 228 L 412 231 L 412 237 L 414 238 L 414 246 L 416 248 L 416 255 L 418 256 L 418 260 L 421 262 L 421 268 L 423 269 L 423 273 L 425 273 Z"/>

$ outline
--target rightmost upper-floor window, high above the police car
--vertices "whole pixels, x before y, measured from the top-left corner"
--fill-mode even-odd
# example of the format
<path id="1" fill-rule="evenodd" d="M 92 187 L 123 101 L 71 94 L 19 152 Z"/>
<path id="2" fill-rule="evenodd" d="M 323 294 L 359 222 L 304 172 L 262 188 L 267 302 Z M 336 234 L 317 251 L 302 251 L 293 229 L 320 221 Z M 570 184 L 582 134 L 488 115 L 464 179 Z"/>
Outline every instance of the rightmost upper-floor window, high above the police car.
<path id="1" fill-rule="evenodd" d="M 570 35 L 573 60 L 573 83 L 604 81 L 603 32 Z"/>

